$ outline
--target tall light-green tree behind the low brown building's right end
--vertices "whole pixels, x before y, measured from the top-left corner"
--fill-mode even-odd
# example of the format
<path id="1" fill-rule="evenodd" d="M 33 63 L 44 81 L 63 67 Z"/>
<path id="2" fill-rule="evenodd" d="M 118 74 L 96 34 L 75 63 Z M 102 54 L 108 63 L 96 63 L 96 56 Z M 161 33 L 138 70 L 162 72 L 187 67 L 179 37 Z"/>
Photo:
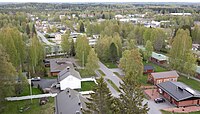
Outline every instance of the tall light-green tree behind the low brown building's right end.
<path id="1" fill-rule="evenodd" d="M 82 62 L 82 66 L 87 63 L 87 56 L 90 51 L 89 41 L 86 36 L 78 36 L 76 41 L 76 57 Z"/>

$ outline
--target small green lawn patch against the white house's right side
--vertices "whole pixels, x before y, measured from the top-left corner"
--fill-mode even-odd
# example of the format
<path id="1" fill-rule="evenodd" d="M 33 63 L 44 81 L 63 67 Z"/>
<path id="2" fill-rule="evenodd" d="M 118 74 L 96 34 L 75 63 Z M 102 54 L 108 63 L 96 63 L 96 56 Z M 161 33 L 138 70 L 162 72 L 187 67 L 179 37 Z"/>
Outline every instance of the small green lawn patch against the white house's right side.
<path id="1" fill-rule="evenodd" d="M 95 86 L 93 81 L 81 82 L 81 91 L 91 91 Z"/>

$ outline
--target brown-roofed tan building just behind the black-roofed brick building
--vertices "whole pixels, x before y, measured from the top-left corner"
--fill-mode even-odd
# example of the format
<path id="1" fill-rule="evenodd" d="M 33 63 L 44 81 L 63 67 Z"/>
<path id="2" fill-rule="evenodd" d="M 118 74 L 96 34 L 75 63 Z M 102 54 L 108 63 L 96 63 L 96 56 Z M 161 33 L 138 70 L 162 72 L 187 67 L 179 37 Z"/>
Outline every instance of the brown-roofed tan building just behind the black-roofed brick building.
<path id="1" fill-rule="evenodd" d="M 148 75 L 148 82 L 157 85 L 166 81 L 177 81 L 179 75 L 176 71 L 156 72 Z"/>

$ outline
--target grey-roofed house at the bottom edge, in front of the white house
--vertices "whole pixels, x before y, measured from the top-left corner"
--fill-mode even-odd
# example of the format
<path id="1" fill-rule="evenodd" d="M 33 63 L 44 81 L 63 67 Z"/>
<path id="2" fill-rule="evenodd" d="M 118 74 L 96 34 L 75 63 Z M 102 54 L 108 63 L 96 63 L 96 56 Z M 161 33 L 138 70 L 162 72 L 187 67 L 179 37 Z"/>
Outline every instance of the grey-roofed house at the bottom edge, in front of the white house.
<path id="1" fill-rule="evenodd" d="M 87 109 L 86 102 L 80 93 L 67 88 L 55 97 L 55 114 L 82 114 Z"/>

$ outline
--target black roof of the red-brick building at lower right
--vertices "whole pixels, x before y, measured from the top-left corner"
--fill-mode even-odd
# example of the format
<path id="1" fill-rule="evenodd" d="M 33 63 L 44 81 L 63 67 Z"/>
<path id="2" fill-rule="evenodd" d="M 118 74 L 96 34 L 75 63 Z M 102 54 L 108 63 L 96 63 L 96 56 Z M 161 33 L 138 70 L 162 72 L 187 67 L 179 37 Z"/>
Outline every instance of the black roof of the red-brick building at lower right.
<path id="1" fill-rule="evenodd" d="M 169 94 L 176 101 L 186 100 L 190 98 L 200 99 L 200 93 L 191 89 L 181 82 L 167 81 L 157 85 L 160 89 Z"/>

